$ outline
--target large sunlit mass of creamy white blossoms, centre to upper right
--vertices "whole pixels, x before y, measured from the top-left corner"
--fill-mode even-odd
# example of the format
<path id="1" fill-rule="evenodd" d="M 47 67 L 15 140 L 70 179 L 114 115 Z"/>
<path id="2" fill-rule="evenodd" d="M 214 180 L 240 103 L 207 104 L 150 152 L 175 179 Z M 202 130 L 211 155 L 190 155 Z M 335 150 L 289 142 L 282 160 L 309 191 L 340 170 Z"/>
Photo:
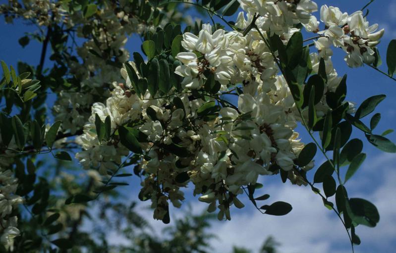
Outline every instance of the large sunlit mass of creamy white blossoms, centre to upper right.
<path id="1" fill-rule="evenodd" d="M 244 33 L 214 30 L 205 24 L 198 35 L 183 34 L 184 51 L 175 57 L 181 62 L 175 69 L 183 78 L 181 93 L 171 88 L 158 99 L 149 91 L 138 96 L 123 68 L 124 82 L 113 83 L 106 104 L 93 105 L 84 134 L 78 138 L 83 151 L 76 157 L 84 168 L 97 168 L 106 174 L 117 169 L 122 157 L 129 154 L 117 129 L 124 126 L 144 136 L 139 140 L 139 166 L 145 176 L 139 197 L 151 199 L 156 219 L 168 214 L 168 202 L 180 206 L 184 199 L 180 187 L 186 187 L 188 179 L 194 185 L 194 195 L 209 203 L 208 211 L 219 210 L 219 219 L 230 219 L 231 205 L 244 206 L 237 196 L 247 185 L 256 184 L 260 175 L 274 175 L 281 169 L 292 183 L 306 184 L 295 165 L 304 148 L 294 131 L 301 117 L 262 36 L 269 39 L 275 33 L 286 45 L 300 31 L 295 28 L 298 23 L 308 32 L 318 33 L 319 22 L 311 15 L 317 5 L 311 0 L 240 2 L 247 20 L 241 12 L 235 25 Z M 377 25 L 368 27 L 361 12 L 348 16 L 326 5 L 321 8 L 321 20 L 326 30 L 319 32 L 315 41 L 318 53 L 310 53 L 310 60 L 311 74 L 318 73 L 320 59 L 325 60 L 325 95 L 334 92 L 342 79 L 333 67 L 330 46 L 346 48 L 350 66 L 359 65 L 357 57 L 362 58 L 360 65 L 369 63 L 372 59 L 368 55 L 372 55 L 383 30 L 373 33 Z M 135 68 L 133 62 L 131 65 Z M 195 96 L 210 76 L 221 84 L 220 91 L 205 99 Z M 235 92 L 240 84 L 243 93 L 233 93 L 238 96 L 237 105 L 224 103 L 220 96 Z M 315 107 L 319 117 L 329 110 L 325 96 Z M 350 103 L 349 110 L 353 107 Z M 102 121 L 111 118 L 109 141 L 98 140 L 96 114 Z M 313 162 L 302 169 L 312 167 Z"/>

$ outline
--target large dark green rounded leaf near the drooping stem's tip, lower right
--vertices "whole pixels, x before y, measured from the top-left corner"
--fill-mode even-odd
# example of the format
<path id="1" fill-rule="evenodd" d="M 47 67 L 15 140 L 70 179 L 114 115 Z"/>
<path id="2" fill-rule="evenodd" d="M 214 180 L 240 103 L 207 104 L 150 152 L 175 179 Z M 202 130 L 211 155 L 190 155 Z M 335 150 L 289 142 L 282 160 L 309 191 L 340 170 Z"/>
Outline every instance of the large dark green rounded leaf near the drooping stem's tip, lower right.
<path id="1" fill-rule="evenodd" d="M 345 202 L 345 209 L 353 222 L 356 224 L 375 227 L 380 221 L 377 207 L 363 199 L 352 198 Z"/>

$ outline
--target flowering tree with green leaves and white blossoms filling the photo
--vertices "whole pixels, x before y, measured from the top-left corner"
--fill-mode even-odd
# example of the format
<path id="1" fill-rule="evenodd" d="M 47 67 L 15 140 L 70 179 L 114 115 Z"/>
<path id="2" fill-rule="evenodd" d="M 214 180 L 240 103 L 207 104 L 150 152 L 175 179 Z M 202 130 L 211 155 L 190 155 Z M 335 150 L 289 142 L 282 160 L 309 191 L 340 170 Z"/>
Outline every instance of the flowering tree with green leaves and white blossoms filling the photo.
<path id="1" fill-rule="evenodd" d="M 190 7 L 213 24 L 190 23 L 181 14 Z M 227 21 L 239 8 L 237 19 Z M 189 213 L 164 231 L 168 238 L 157 238 L 135 204 L 122 201 L 123 186 L 139 177 L 137 197 L 151 201 L 154 218 L 166 224 L 170 203 L 180 207 L 187 186 L 220 220 L 231 219 L 233 206 L 244 207 L 243 194 L 263 214 L 286 215 L 289 203 L 255 195 L 264 175 L 309 185 L 339 217 L 353 251 L 360 244 L 356 226 L 374 227 L 380 216 L 374 204 L 347 194 L 346 182 L 367 156 L 363 141 L 351 134 L 362 132 L 384 152 L 396 146 L 385 137 L 393 130 L 375 131 L 380 113 L 370 126 L 364 119 L 386 95 L 359 106 L 347 101 L 349 79 L 338 76 L 331 56 L 333 47 L 343 50 L 348 66 L 366 64 L 395 80 L 396 43 L 388 47 L 387 74 L 378 68 L 376 48 L 384 30 L 369 26 L 367 14 L 323 5 L 321 30 L 312 15 L 317 9 L 311 0 L 0 5 L 8 23 L 20 18 L 39 27 L 20 38 L 22 47 L 42 43 L 37 66 L 18 62 L 15 71 L 1 61 L 3 251 L 207 252 L 212 215 Z M 302 29 L 315 37 L 304 40 Z M 131 34 L 141 36 L 144 55 L 124 48 Z M 49 94 L 56 96 L 52 111 Z M 311 137 L 303 140 L 308 144 L 298 139 L 298 124 Z M 315 164 L 316 154 L 326 161 Z M 105 227 L 92 216 L 96 206 Z M 81 230 L 86 220 L 98 227 L 92 234 Z M 122 233 L 133 246 L 109 245 L 108 229 L 121 230 L 120 224 L 131 226 Z M 261 252 L 275 253 L 276 245 L 268 239 Z"/>

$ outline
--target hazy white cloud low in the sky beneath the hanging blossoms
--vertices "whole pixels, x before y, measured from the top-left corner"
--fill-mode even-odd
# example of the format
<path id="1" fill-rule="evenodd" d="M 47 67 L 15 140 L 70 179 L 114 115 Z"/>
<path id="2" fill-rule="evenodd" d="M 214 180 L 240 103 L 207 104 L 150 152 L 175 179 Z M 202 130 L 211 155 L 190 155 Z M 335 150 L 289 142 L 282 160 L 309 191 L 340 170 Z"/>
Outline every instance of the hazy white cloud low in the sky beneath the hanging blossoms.
<path id="1" fill-rule="evenodd" d="M 396 247 L 396 166 L 395 154 L 368 155 L 364 166 L 348 181 L 349 197 L 360 197 L 376 204 L 381 220 L 377 227 L 358 226 L 356 233 L 362 245 L 355 246 L 356 253 L 391 252 Z M 311 172 L 313 173 L 313 172 Z M 266 177 L 264 180 L 274 181 Z M 191 187 L 185 195 L 191 196 Z M 212 240 L 214 252 L 231 252 L 232 246 L 240 246 L 257 252 L 264 240 L 273 235 L 281 243 L 282 253 L 350 253 L 346 231 L 337 215 L 323 205 L 321 198 L 309 187 L 286 184 L 265 184 L 263 193 L 271 195 L 268 202 L 285 201 L 293 210 L 285 216 L 270 216 L 259 213 L 252 204 L 243 199 L 246 207 L 231 211 L 231 221 L 214 221 L 210 232 L 217 235 Z M 366 194 L 364 194 L 366 193 Z M 257 193 L 257 196 L 260 192 Z M 128 193 L 136 200 L 137 192 Z M 131 200 L 131 201 L 133 201 Z M 268 203 L 265 202 L 265 203 Z M 153 219 L 149 202 L 138 202 L 137 212 L 146 219 L 157 236 L 164 236 L 162 229 L 167 225 Z M 201 213 L 207 204 L 186 201 L 181 209 L 171 208 L 171 219 L 182 217 L 188 205 L 194 213 Z M 264 204 L 264 202 L 263 202 Z M 86 226 L 89 229 L 89 225 Z M 91 227 L 92 229 L 92 227 Z M 166 235 L 165 235 L 166 236 Z M 128 241 L 117 233 L 110 233 L 111 244 L 127 245 Z"/>

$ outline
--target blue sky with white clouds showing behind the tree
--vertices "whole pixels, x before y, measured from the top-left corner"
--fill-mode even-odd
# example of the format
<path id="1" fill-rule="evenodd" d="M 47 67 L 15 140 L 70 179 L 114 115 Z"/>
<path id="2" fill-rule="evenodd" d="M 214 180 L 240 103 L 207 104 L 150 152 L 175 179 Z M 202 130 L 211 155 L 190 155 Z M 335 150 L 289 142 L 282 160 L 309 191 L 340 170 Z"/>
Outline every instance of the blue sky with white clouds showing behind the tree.
<path id="1" fill-rule="evenodd" d="M 349 14 L 360 9 L 369 0 L 317 0 L 318 5 L 331 3 L 339 6 L 342 11 Z M 0 0 L 0 3 L 5 0 Z M 328 4 L 329 4 L 328 3 Z M 330 4 L 329 4 L 330 5 Z M 396 39 L 396 0 L 377 0 L 369 7 L 368 20 L 370 24 L 378 23 L 380 28 L 385 28 L 386 33 L 379 45 L 379 51 L 383 62 L 386 62 L 386 49 L 392 39 Z M 193 18 L 194 12 L 189 13 Z M 316 12 L 315 15 L 319 15 Z M 207 17 L 203 21 L 209 22 Z M 232 20 L 232 17 L 228 20 Z M 26 26 L 23 22 L 17 21 L 14 25 L 5 24 L 0 20 L 0 59 L 7 64 L 16 66 L 18 60 L 25 61 L 32 65 L 37 65 L 40 59 L 41 44 L 31 41 L 22 49 L 18 44 L 18 39 L 26 32 L 35 30 L 33 26 Z M 126 48 L 130 51 L 140 51 L 141 41 L 138 37 L 129 38 Z M 348 95 L 347 100 L 360 104 L 366 98 L 378 94 L 386 94 L 388 98 L 378 107 L 377 112 L 381 112 L 382 119 L 376 129 L 376 133 L 394 128 L 396 123 L 396 82 L 388 77 L 365 66 L 358 69 L 350 69 L 343 61 L 343 52 L 335 50 L 333 56 L 334 66 L 339 75 L 348 74 Z M 46 66 L 51 66 L 47 60 Z M 386 64 L 380 67 L 387 72 Z M 48 101 L 51 108 L 53 98 Z M 370 117 L 367 117 L 369 120 Z M 305 143 L 311 142 L 309 136 L 302 128 L 298 128 L 301 138 Z M 362 133 L 354 130 L 352 138 L 365 140 Z M 388 135 L 388 138 L 396 142 L 396 134 Z M 348 181 L 346 187 L 349 197 L 360 197 L 374 202 L 380 212 L 381 220 L 377 227 L 367 228 L 359 226 L 356 233 L 360 236 L 362 244 L 356 246 L 357 253 L 377 253 L 393 252 L 396 248 L 396 155 L 387 154 L 377 150 L 368 142 L 364 141 L 364 150 L 367 159 L 355 176 Z M 315 157 L 316 164 L 323 162 L 323 157 Z M 344 168 L 345 171 L 345 168 Z M 313 176 L 314 171 L 308 173 Z M 246 200 L 243 199 L 246 207 L 242 210 L 233 209 L 231 211 L 231 221 L 215 222 L 212 232 L 217 234 L 219 239 L 213 239 L 216 252 L 228 252 L 231 248 L 229 243 L 244 246 L 252 250 L 258 249 L 268 235 L 274 235 L 282 246 L 282 253 L 348 253 L 350 245 L 337 216 L 323 206 L 321 198 L 315 195 L 307 187 L 292 186 L 289 183 L 282 184 L 278 176 L 262 177 L 261 183 L 264 188 L 263 193 L 271 195 L 271 202 L 286 201 L 293 205 L 293 210 L 286 216 L 276 217 L 262 215 Z M 125 198 L 130 201 L 138 201 L 137 192 L 139 180 L 133 178 L 131 186 L 125 188 Z M 259 194 L 259 193 L 258 193 Z M 185 191 L 187 204 L 193 206 L 194 211 L 201 212 L 206 204 L 198 202 L 192 197 L 192 188 Z M 147 203 L 140 203 L 141 213 L 148 218 L 157 233 L 164 227 L 161 221 L 152 219 L 152 212 L 145 208 Z M 185 208 L 184 207 L 184 208 Z M 175 216 L 183 215 L 185 209 L 172 208 L 171 212 Z M 86 229 L 89 229 L 87 224 Z M 113 243 L 126 243 L 115 233 L 111 234 Z"/>

